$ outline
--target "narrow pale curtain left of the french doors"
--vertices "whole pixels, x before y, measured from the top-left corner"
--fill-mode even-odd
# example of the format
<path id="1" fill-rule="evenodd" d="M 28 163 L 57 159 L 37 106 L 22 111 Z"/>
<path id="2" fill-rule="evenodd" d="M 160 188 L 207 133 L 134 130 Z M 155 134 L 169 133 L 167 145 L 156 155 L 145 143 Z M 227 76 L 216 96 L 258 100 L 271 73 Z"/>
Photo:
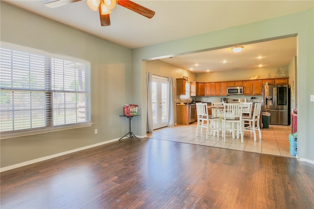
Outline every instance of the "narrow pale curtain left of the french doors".
<path id="1" fill-rule="evenodd" d="M 146 95 L 147 95 L 147 125 L 146 132 L 153 132 L 153 104 L 152 104 L 152 81 L 153 74 L 146 72 Z"/>

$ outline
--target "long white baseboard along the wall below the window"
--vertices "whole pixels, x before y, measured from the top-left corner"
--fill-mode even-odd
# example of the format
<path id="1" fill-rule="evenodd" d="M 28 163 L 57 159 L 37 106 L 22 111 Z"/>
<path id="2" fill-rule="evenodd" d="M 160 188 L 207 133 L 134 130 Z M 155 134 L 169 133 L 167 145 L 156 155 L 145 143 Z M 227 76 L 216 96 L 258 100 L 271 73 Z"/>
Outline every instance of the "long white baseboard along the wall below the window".
<path id="1" fill-rule="evenodd" d="M 92 148 L 92 147 L 97 147 L 97 146 L 100 146 L 100 145 L 103 145 L 103 144 L 107 144 L 107 143 L 110 143 L 110 142 L 114 142 L 114 141 L 118 141 L 118 140 L 119 140 L 119 138 L 116 138 L 116 139 L 112 139 L 112 140 L 109 140 L 109 141 L 104 141 L 104 142 L 100 142 L 100 143 L 97 143 L 97 144 L 92 144 L 92 145 L 89 145 L 89 146 L 86 146 L 86 147 L 80 147 L 78 149 L 69 150 L 69 151 L 62 152 L 62 153 L 57 153 L 57 154 L 54 154 L 54 155 L 51 155 L 51 156 L 40 157 L 40 158 L 37 158 L 37 159 L 28 160 L 28 161 L 25 161 L 25 162 L 21 162 L 21 163 L 18 163 L 18 164 L 14 164 L 14 165 L 10 165 L 10 166 L 6 166 L 6 167 L 3 167 L 3 168 L 0 168 L 0 172 L 12 170 L 12 169 L 19 168 L 19 167 L 26 166 L 26 165 L 30 165 L 30 164 L 33 164 L 33 163 L 36 163 L 36 162 L 41 162 L 41 161 L 44 161 L 44 160 L 47 160 L 47 159 L 51 159 L 51 158 L 54 158 L 54 157 L 59 157 L 59 156 L 67 155 L 67 154 L 70 154 L 70 153 L 75 153 L 75 152 L 78 152 L 78 151 L 81 151 L 81 150 L 86 150 L 86 149 L 89 149 L 89 148 Z"/>

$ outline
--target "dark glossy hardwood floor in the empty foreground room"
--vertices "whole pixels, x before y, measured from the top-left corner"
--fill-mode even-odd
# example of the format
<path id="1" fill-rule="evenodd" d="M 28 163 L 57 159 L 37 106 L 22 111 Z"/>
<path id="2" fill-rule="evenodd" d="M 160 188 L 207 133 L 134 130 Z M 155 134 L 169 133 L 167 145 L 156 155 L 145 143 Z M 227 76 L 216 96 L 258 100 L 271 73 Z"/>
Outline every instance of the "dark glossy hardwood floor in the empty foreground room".
<path id="1" fill-rule="evenodd" d="M 313 209 L 314 165 L 124 139 L 1 173 L 1 209 Z"/>

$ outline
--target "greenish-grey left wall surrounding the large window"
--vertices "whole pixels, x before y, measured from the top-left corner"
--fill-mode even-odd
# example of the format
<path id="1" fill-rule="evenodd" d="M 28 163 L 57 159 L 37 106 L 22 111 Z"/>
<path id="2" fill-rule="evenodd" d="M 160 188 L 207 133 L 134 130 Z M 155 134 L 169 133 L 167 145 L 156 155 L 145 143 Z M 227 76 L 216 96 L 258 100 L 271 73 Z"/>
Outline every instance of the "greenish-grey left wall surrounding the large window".
<path id="1" fill-rule="evenodd" d="M 0 140 L 1 168 L 119 139 L 129 129 L 131 50 L 0 2 L 2 42 L 91 63 L 91 127 Z M 98 129 L 98 134 L 94 130 Z"/>

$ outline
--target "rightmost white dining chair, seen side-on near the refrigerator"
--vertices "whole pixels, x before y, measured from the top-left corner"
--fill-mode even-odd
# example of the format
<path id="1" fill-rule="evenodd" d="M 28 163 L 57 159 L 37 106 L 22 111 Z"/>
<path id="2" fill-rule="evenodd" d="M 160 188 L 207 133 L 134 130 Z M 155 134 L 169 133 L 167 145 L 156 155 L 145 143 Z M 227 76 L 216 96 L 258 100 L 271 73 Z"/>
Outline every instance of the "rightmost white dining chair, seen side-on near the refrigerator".
<path id="1" fill-rule="evenodd" d="M 251 126 L 245 127 L 243 123 L 242 131 L 250 131 L 250 133 L 253 132 L 254 141 L 256 141 L 256 132 L 255 132 L 256 130 L 259 131 L 260 139 L 262 138 L 261 127 L 260 127 L 261 109 L 262 109 L 262 103 L 255 103 L 252 116 L 243 116 L 243 121 L 248 121 L 251 124 Z"/>

